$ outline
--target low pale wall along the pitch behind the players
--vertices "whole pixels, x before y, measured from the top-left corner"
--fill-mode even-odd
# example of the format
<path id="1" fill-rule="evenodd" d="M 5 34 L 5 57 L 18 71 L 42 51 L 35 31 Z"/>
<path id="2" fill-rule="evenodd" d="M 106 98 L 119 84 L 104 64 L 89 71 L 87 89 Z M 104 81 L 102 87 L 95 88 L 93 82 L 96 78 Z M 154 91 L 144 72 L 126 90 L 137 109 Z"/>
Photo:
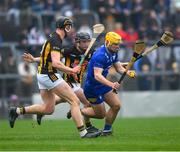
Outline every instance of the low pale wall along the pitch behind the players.
<path id="1" fill-rule="evenodd" d="M 122 109 L 118 114 L 119 117 L 180 116 L 180 91 L 123 91 L 120 98 Z M 39 94 L 34 94 L 33 102 L 42 102 Z M 56 106 L 53 115 L 45 118 L 65 119 L 68 111 L 68 103 L 63 103 Z"/>

